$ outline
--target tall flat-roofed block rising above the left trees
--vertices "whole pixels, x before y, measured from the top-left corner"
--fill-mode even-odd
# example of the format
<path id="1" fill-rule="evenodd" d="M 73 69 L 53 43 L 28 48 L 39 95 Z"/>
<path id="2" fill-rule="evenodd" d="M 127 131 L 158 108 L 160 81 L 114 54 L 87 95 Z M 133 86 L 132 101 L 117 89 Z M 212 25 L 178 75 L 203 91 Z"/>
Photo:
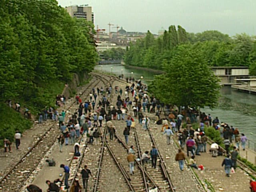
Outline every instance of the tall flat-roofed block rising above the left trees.
<path id="1" fill-rule="evenodd" d="M 92 7 L 88 6 L 68 6 L 66 7 L 68 14 L 76 18 L 84 18 L 87 21 L 94 22 L 94 14 Z"/>

